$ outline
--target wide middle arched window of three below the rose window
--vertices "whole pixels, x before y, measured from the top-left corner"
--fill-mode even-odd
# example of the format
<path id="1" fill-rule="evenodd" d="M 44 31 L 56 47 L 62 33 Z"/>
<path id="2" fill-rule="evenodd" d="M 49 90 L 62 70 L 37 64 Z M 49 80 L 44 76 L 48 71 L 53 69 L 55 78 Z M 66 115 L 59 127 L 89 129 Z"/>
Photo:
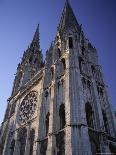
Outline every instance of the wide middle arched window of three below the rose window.
<path id="1" fill-rule="evenodd" d="M 24 127 L 18 131 L 18 140 L 20 143 L 20 155 L 24 155 L 27 138 L 27 129 Z"/>

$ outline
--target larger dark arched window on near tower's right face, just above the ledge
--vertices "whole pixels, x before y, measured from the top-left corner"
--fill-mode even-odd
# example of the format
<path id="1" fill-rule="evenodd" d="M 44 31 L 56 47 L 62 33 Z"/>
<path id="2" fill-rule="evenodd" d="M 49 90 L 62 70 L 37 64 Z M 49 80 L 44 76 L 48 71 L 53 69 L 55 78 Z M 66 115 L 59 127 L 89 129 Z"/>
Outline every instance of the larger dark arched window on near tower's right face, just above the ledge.
<path id="1" fill-rule="evenodd" d="M 88 127 L 94 128 L 94 112 L 90 103 L 85 104 L 86 120 Z"/>

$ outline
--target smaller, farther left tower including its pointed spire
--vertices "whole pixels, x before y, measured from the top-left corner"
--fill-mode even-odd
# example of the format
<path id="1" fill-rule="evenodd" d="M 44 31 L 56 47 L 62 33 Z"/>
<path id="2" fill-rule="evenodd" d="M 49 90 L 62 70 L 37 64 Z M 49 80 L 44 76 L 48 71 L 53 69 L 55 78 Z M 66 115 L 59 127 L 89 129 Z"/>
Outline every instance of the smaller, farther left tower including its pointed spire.
<path id="1" fill-rule="evenodd" d="M 24 51 L 21 63 L 17 67 L 12 95 L 23 87 L 41 69 L 43 56 L 40 49 L 39 25 L 35 31 L 33 40 Z"/>

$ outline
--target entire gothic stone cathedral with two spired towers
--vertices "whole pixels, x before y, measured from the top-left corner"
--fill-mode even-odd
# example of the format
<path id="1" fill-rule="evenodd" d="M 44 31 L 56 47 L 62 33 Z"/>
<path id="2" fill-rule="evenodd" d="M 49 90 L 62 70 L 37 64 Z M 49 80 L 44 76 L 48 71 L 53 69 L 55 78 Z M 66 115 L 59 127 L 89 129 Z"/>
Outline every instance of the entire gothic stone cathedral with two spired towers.
<path id="1" fill-rule="evenodd" d="M 43 60 L 39 25 L 18 64 L 0 155 L 116 153 L 116 122 L 96 48 L 68 0 Z"/>

